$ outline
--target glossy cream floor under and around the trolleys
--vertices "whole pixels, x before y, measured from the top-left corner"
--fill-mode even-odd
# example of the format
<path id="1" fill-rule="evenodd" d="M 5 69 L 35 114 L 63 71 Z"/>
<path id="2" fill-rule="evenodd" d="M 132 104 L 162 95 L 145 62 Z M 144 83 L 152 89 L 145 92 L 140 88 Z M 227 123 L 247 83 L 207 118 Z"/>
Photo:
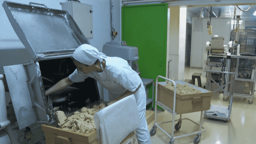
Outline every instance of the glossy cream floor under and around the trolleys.
<path id="1" fill-rule="evenodd" d="M 202 73 L 202 85 L 206 82 L 206 73 L 202 69 L 185 68 L 184 79 L 191 79 L 194 72 Z M 197 85 L 197 81 L 195 83 Z M 211 105 L 228 106 L 228 101 L 223 101 L 223 94 L 214 93 L 211 99 Z M 201 112 L 183 114 L 183 118 L 189 118 L 197 123 L 200 122 Z M 175 119 L 179 119 L 176 115 Z M 172 115 L 167 111 L 157 113 L 157 122 L 170 121 Z M 210 120 L 203 118 L 202 126 L 206 129 L 202 133 L 200 144 L 256 144 L 256 104 L 248 104 L 248 100 L 243 98 L 234 98 L 230 121 Z M 175 122 L 177 123 L 177 122 Z M 149 130 L 154 125 L 154 121 L 148 125 Z M 171 123 L 162 124 L 161 127 L 171 135 Z M 198 131 L 199 127 L 194 123 L 183 120 L 179 131 L 174 131 L 174 136 L 192 133 Z M 196 135 L 174 139 L 175 144 L 193 144 Z M 151 137 L 152 144 L 168 144 L 170 138 L 159 128 L 156 134 Z"/>

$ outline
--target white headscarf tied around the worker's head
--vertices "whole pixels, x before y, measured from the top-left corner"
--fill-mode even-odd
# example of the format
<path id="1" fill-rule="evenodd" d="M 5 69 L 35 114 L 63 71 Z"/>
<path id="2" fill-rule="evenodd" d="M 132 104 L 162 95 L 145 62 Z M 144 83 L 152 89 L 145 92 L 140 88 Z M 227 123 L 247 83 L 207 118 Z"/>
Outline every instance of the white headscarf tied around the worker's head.
<path id="1" fill-rule="evenodd" d="M 95 47 L 88 44 L 83 44 L 79 46 L 74 51 L 72 57 L 80 63 L 86 65 L 93 65 L 97 61 L 97 59 L 99 59 L 102 70 L 103 67 L 101 62 L 103 61 L 103 59 L 107 58 L 104 53 L 99 52 Z"/>

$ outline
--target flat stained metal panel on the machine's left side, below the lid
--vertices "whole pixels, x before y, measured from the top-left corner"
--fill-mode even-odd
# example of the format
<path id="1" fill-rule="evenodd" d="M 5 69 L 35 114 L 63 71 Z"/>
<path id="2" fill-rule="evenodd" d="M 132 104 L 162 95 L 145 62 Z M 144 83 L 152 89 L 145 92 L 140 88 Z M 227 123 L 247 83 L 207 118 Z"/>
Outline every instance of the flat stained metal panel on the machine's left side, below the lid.
<path id="1" fill-rule="evenodd" d="M 22 64 L 5 66 L 4 72 L 18 126 L 19 129 L 23 129 L 36 122 L 36 113 L 27 86 L 28 76 Z"/>

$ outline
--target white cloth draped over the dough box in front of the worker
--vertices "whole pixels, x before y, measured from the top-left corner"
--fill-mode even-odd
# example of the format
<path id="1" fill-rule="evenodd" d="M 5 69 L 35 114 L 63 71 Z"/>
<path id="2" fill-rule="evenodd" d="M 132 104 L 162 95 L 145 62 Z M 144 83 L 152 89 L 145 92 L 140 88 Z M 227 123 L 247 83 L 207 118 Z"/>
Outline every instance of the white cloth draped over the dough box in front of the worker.
<path id="1" fill-rule="evenodd" d="M 97 139 L 101 144 L 120 144 L 140 126 L 140 117 L 134 95 L 127 96 L 94 115 Z"/>

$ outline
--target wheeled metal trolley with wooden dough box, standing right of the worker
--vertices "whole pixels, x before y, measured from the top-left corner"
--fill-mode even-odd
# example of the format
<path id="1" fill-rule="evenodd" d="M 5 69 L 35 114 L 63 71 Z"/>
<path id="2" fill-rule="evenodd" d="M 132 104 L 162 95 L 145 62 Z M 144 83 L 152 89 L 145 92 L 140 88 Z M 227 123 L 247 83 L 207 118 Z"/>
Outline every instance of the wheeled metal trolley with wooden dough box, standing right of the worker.
<path id="1" fill-rule="evenodd" d="M 158 78 L 163 78 L 167 81 L 170 81 L 171 83 L 174 84 L 174 92 L 172 92 L 171 90 L 169 89 L 163 89 L 161 90 L 161 84 L 166 84 L 166 82 L 158 82 Z M 160 85 L 159 85 L 160 83 Z M 189 109 L 188 111 L 182 111 L 179 107 L 182 105 L 182 100 L 180 101 L 179 99 L 177 99 L 177 103 L 176 103 L 176 83 L 181 83 L 181 84 L 188 84 L 189 86 L 191 87 L 194 87 L 194 88 L 197 88 L 201 91 L 203 91 L 204 93 L 200 93 L 200 96 L 199 95 L 196 95 L 196 98 L 193 98 L 191 97 L 190 95 L 186 95 L 185 97 L 189 98 L 191 101 L 189 101 L 188 99 L 186 99 L 185 101 L 186 102 L 190 102 L 191 104 L 188 104 L 189 106 L 191 106 L 192 108 Z M 162 87 L 163 88 L 163 87 Z M 160 92 L 158 92 L 158 90 L 160 89 Z M 170 92 L 169 93 L 164 93 L 162 91 L 165 91 L 165 92 Z M 159 94 L 158 94 L 159 93 Z M 163 100 L 162 97 L 161 97 L 161 94 L 164 94 L 164 95 L 167 95 L 169 96 L 167 99 Z M 173 97 L 170 95 L 173 94 Z M 179 95 L 179 94 L 178 94 Z M 203 110 L 208 110 L 210 109 L 210 101 L 211 101 L 211 96 L 212 96 L 212 92 L 209 91 L 209 90 L 206 90 L 206 89 L 203 89 L 203 88 L 200 88 L 200 87 L 197 87 L 195 85 L 192 85 L 192 84 L 189 84 L 189 83 L 186 83 L 186 82 L 183 82 L 183 81 L 176 81 L 174 82 L 173 80 L 171 79 L 168 79 L 168 78 L 165 78 L 163 76 L 157 76 L 156 78 L 156 98 L 155 98 L 155 124 L 153 126 L 153 128 L 150 130 L 150 135 L 151 136 L 154 136 L 156 134 L 156 129 L 157 127 L 162 130 L 167 136 L 169 136 L 171 138 L 169 144 L 174 144 L 174 139 L 177 139 L 177 138 L 181 138 L 181 137 L 186 137 L 186 136 L 190 136 L 190 135 L 194 135 L 194 134 L 197 134 L 196 137 L 194 138 L 194 144 L 198 144 L 200 139 L 201 139 L 201 133 L 205 131 L 205 128 L 202 127 L 202 118 L 203 118 Z M 172 100 L 173 100 L 173 103 L 172 103 Z M 166 103 L 167 102 L 167 103 Z M 199 102 L 199 103 L 197 103 Z M 196 107 L 193 107 L 192 105 L 196 103 Z M 177 105 L 176 105 L 177 104 Z M 201 106 L 200 106 L 201 104 Z M 169 113 L 171 113 L 173 115 L 172 117 L 172 121 L 167 121 L 167 122 L 161 122 L 161 123 L 157 123 L 157 119 L 156 119 L 156 110 L 157 110 L 157 105 L 161 106 L 163 109 L 165 109 L 166 111 L 168 111 Z M 173 105 L 173 106 L 172 106 Z M 189 107 L 188 106 L 188 107 Z M 199 106 L 199 107 L 198 107 Z M 172 109 L 171 109 L 171 108 Z M 204 108 L 203 108 L 204 107 Z M 176 108 L 176 109 L 175 109 Z M 175 111 L 176 110 L 176 111 Z M 196 112 L 196 111 L 201 111 L 201 117 L 200 117 L 200 124 L 197 124 L 196 122 L 188 119 L 188 118 L 181 118 L 181 114 L 184 114 L 184 113 L 190 113 L 190 112 Z M 176 114 L 180 114 L 180 118 L 178 120 L 175 120 L 175 115 Z M 182 123 L 182 120 L 190 120 L 191 122 L 193 122 L 194 124 L 198 125 L 199 126 L 199 131 L 196 131 L 196 132 L 193 132 L 193 133 L 189 133 L 189 134 L 185 134 L 185 135 L 181 135 L 181 136 L 176 136 L 174 137 L 174 128 L 175 130 L 179 130 L 181 128 L 181 123 Z M 174 125 L 174 122 L 175 121 L 178 121 L 177 124 Z M 162 129 L 159 125 L 160 124 L 163 124 L 163 123 L 169 123 L 169 122 L 172 122 L 172 134 L 169 135 L 164 129 Z M 202 130 L 203 129 L 203 130 Z"/>

